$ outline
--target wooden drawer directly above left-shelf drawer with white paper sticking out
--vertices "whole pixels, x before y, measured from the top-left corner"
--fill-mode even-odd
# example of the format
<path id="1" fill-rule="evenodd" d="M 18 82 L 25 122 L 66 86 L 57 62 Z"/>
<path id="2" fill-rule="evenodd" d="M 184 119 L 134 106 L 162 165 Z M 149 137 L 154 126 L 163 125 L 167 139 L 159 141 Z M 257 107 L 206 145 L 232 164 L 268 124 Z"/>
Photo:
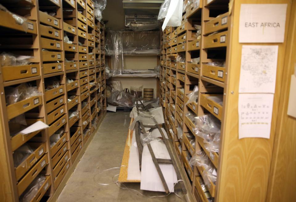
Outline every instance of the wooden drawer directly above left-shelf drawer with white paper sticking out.
<path id="1" fill-rule="evenodd" d="M 42 104 L 41 96 L 33 96 L 26 100 L 16 102 L 14 104 L 8 105 L 6 107 L 8 119 L 19 116 L 22 113 L 25 113 L 39 105 Z"/>

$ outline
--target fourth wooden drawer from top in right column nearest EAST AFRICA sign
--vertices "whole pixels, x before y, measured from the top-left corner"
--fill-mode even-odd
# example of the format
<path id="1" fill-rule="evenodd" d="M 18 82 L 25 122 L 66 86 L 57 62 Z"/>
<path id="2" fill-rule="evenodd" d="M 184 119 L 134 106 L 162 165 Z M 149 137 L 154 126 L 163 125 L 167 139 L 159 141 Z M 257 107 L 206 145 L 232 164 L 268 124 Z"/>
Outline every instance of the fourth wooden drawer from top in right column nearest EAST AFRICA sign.
<path id="1" fill-rule="evenodd" d="M 222 119 L 222 106 L 215 101 L 209 99 L 209 96 L 221 96 L 219 94 L 200 94 L 200 105 L 207 109 L 219 120 Z M 223 95 L 222 95 L 223 96 Z"/>

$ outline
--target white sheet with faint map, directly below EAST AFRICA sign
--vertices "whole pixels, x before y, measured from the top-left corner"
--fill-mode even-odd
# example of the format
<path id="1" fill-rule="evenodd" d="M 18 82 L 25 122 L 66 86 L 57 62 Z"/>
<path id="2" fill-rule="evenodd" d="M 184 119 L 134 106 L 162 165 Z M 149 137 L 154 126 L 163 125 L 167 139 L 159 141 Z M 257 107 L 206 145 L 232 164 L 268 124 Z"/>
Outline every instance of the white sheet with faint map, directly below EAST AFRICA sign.
<path id="1" fill-rule="evenodd" d="M 242 46 L 239 93 L 274 93 L 278 46 Z"/>

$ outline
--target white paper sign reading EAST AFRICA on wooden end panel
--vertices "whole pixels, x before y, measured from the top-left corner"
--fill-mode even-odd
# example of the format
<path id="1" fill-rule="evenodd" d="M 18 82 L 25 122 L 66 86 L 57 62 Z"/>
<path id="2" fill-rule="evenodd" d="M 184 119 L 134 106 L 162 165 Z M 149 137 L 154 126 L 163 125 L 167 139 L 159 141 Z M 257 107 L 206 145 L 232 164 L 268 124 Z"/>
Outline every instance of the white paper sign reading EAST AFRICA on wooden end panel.
<path id="1" fill-rule="evenodd" d="M 240 43 L 282 43 L 287 4 L 241 4 Z"/>

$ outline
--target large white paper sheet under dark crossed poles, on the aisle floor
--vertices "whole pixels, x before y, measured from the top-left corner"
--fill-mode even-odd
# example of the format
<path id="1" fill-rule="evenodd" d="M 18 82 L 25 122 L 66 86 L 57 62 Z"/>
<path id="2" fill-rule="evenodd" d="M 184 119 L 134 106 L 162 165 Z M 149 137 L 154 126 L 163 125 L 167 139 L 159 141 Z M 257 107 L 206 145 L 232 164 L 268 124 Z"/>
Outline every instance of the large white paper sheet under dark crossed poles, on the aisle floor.
<path id="1" fill-rule="evenodd" d="M 162 131 L 167 137 L 165 130 L 162 129 Z M 152 131 L 152 135 L 154 137 L 161 137 L 157 129 Z M 165 144 L 154 140 L 150 142 L 150 145 L 156 158 L 171 159 Z M 177 182 L 177 174 L 173 164 L 159 164 L 159 167 L 170 192 L 174 192 L 174 183 Z M 144 145 L 142 153 L 141 189 L 165 192 L 147 145 Z"/>

